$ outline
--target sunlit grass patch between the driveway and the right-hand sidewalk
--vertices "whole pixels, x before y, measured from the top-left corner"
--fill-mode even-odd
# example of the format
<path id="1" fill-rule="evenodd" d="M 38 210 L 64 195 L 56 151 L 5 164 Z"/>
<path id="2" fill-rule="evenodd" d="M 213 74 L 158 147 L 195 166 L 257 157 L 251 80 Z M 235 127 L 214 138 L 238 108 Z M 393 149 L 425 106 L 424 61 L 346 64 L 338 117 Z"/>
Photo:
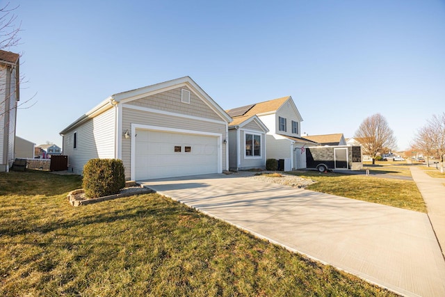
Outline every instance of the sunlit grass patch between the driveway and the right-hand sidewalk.
<path id="1" fill-rule="evenodd" d="M 316 181 L 307 186 L 308 190 L 426 213 L 422 195 L 410 180 L 316 171 L 288 173 Z"/>

